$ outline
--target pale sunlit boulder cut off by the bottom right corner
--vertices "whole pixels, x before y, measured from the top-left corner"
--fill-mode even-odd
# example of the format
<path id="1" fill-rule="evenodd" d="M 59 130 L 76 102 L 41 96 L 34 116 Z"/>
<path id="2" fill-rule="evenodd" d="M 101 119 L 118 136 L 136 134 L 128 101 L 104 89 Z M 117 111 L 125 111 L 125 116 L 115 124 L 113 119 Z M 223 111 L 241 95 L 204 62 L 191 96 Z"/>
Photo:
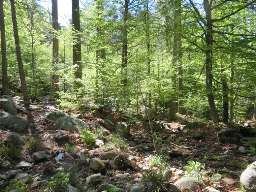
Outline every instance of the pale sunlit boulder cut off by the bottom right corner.
<path id="1" fill-rule="evenodd" d="M 241 174 L 240 182 L 246 191 L 256 191 L 256 161 Z"/>

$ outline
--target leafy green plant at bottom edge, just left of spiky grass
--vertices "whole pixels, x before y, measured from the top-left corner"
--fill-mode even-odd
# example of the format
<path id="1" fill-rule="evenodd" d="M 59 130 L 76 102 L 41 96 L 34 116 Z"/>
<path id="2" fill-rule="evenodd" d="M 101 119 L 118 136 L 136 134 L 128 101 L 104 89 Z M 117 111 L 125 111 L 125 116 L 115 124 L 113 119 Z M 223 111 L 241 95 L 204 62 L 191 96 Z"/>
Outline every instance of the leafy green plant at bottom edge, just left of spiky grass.
<path id="1" fill-rule="evenodd" d="M 58 172 L 57 174 L 53 175 L 51 179 L 52 181 L 48 183 L 47 189 L 50 192 L 62 192 L 65 188 L 67 188 L 69 173 Z"/>

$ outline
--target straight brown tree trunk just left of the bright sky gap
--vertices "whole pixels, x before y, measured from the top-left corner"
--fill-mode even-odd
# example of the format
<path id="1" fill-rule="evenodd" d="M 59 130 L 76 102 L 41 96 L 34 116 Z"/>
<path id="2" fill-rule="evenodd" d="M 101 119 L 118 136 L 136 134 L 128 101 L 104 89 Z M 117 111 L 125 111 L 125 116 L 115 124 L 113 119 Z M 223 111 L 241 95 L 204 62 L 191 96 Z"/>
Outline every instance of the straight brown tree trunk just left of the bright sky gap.
<path id="1" fill-rule="evenodd" d="M 59 29 L 58 24 L 58 0 L 52 0 L 52 20 L 53 20 L 53 77 L 52 77 L 52 87 L 53 91 L 59 91 L 59 75 L 55 74 L 58 70 L 59 64 L 59 39 L 56 34 Z"/>

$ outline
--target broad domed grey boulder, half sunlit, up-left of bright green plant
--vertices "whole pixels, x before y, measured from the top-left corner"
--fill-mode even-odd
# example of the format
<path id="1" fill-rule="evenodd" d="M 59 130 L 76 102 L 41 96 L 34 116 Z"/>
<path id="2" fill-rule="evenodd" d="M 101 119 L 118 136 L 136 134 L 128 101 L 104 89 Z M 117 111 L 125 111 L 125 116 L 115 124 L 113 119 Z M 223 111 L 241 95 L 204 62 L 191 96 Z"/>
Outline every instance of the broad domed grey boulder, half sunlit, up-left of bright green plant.
<path id="1" fill-rule="evenodd" d="M 88 129 L 88 126 L 82 120 L 77 119 L 76 117 L 64 116 L 59 118 L 54 126 L 58 128 L 64 128 L 65 130 L 80 131 L 81 129 Z"/>

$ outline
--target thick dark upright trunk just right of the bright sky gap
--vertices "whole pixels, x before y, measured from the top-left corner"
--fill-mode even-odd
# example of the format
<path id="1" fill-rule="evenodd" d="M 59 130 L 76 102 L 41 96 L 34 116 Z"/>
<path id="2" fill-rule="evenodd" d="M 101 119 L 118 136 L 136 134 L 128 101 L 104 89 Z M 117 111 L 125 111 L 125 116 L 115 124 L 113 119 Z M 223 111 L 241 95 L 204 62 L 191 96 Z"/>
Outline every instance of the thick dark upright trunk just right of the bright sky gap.
<path id="1" fill-rule="evenodd" d="M 80 35 L 80 12 L 79 0 L 72 0 L 72 30 L 73 30 L 73 65 L 76 66 L 75 78 L 82 79 L 82 55 L 81 55 L 81 35 Z M 76 82 L 77 88 L 82 87 L 80 82 Z"/>

